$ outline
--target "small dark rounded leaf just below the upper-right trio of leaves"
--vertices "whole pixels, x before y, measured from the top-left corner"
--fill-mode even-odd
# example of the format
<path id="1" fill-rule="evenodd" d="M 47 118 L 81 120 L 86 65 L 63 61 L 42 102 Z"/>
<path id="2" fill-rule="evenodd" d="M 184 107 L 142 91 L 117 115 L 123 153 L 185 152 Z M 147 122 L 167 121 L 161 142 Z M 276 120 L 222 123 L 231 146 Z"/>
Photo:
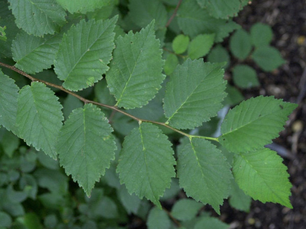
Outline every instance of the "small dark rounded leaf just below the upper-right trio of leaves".
<path id="1" fill-rule="evenodd" d="M 256 71 L 247 65 L 236 65 L 233 70 L 234 83 L 243 89 L 260 85 Z"/>

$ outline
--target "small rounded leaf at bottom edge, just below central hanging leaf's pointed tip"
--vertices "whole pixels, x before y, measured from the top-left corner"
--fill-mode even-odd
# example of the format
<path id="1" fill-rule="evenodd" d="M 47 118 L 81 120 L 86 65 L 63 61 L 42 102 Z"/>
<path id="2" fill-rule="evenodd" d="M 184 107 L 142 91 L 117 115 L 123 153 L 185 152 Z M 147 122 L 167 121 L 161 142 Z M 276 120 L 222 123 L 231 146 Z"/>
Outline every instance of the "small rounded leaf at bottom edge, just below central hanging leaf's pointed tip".
<path id="1" fill-rule="evenodd" d="M 155 207 L 150 210 L 146 224 L 148 229 L 168 229 L 171 226 L 171 221 L 165 211 Z"/>

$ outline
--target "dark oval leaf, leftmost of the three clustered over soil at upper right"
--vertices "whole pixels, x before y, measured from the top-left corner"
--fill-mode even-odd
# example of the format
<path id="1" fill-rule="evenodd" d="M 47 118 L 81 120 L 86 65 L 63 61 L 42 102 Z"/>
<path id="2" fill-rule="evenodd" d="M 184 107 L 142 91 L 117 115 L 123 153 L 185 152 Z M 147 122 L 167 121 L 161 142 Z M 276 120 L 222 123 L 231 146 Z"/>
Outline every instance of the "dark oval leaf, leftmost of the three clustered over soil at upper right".
<path id="1" fill-rule="evenodd" d="M 239 60 L 244 60 L 252 50 L 251 38 L 245 30 L 237 30 L 230 39 L 230 49 Z"/>

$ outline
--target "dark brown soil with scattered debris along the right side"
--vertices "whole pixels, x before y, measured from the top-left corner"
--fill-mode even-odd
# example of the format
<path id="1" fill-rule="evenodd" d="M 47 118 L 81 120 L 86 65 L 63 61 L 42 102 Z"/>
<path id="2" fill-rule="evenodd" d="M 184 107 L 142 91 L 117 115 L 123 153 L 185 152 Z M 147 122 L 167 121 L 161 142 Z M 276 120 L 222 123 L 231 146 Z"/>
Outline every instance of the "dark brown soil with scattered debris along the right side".
<path id="1" fill-rule="evenodd" d="M 253 201 L 249 213 L 233 210 L 225 203 L 221 219 L 231 228 L 306 228 L 306 2 L 304 0 L 259 0 L 245 7 L 236 21 L 249 31 L 256 22 L 272 27 L 272 45 L 281 51 L 287 63 L 272 73 L 258 70 L 260 89 L 243 91 L 246 98 L 258 95 L 296 102 L 286 130 L 274 142 L 285 153 L 292 182 L 293 209 L 278 204 Z"/>

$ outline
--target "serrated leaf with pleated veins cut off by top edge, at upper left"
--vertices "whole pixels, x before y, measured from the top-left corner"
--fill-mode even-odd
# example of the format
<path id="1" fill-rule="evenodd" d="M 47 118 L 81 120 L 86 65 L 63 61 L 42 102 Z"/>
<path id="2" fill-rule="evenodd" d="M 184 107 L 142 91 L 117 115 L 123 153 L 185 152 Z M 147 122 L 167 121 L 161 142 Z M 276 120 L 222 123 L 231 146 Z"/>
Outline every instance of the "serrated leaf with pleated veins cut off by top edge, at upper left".
<path id="1" fill-rule="evenodd" d="M 54 34 L 65 23 L 66 13 L 55 0 L 8 0 L 16 25 L 28 34 Z"/>

